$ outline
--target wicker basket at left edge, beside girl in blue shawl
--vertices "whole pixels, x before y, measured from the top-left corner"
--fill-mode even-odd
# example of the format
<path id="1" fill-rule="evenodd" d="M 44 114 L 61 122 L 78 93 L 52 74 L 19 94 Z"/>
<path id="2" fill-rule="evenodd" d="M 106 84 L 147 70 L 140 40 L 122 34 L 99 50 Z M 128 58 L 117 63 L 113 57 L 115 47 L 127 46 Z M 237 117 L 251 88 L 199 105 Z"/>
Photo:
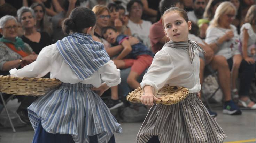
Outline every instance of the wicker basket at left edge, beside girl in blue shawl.
<path id="1" fill-rule="evenodd" d="M 41 96 L 61 83 L 51 78 L 18 78 L 0 75 L 0 91 L 13 95 Z"/>

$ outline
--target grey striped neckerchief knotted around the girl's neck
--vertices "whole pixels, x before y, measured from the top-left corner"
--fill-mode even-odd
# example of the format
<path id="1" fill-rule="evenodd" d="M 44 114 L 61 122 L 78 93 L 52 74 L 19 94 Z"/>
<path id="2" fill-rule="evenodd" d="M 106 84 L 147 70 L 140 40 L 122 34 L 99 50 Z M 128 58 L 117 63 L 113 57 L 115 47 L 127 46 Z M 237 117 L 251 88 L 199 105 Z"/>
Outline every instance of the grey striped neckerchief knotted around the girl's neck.
<path id="1" fill-rule="evenodd" d="M 192 64 L 193 58 L 195 57 L 194 50 L 197 49 L 201 53 L 205 51 L 194 41 L 188 40 L 188 42 L 173 42 L 169 41 L 165 43 L 164 46 L 173 47 L 173 48 L 184 48 L 188 50 L 190 63 Z"/>

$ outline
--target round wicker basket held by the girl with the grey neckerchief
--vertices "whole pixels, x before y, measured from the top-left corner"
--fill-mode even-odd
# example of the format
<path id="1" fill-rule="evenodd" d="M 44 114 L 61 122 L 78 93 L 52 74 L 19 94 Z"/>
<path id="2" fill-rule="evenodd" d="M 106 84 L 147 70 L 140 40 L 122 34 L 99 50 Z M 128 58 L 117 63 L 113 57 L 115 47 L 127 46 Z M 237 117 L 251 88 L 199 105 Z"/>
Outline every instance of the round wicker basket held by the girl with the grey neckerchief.
<path id="1" fill-rule="evenodd" d="M 176 87 L 166 85 L 163 88 L 159 89 L 157 98 L 161 100 L 156 100 L 154 103 L 156 104 L 165 104 L 171 105 L 176 104 L 182 100 L 184 100 L 188 96 L 189 90 L 185 87 Z M 133 103 L 140 103 L 140 97 L 143 95 L 141 87 L 138 87 L 131 93 L 128 93 L 126 96 L 126 100 Z"/>

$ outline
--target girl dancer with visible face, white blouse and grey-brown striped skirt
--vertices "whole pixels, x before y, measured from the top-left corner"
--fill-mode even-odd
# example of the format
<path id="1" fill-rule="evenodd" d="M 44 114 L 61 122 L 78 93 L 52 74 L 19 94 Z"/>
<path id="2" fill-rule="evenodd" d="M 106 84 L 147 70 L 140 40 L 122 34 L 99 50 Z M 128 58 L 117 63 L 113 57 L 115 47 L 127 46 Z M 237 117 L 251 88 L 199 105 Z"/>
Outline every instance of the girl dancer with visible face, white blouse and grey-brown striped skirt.
<path id="1" fill-rule="evenodd" d="M 162 23 L 171 41 L 156 53 L 140 83 L 144 92 L 141 102 L 153 106 L 139 130 L 137 143 L 222 143 L 225 133 L 198 97 L 198 53 L 204 51 L 188 39 L 191 21 L 183 9 L 172 7 L 164 12 Z M 158 100 L 158 89 L 165 84 L 186 87 L 189 95 L 177 104 L 153 104 Z"/>

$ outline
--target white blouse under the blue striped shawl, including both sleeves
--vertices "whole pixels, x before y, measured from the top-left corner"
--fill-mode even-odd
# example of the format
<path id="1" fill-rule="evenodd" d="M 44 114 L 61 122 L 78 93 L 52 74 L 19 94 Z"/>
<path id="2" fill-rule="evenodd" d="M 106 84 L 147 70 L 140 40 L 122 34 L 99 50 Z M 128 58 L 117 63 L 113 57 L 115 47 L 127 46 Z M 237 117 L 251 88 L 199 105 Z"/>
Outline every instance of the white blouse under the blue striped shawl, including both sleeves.
<path id="1" fill-rule="evenodd" d="M 16 77 L 36 77 L 40 78 L 51 72 L 51 78 L 59 79 L 64 83 L 92 84 L 94 87 L 101 85 L 101 79 L 108 86 L 116 86 L 121 82 L 120 70 L 116 69 L 113 61 L 104 64 L 98 71 L 90 77 L 80 80 L 71 70 L 57 50 L 56 44 L 44 47 L 39 53 L 37 60 L 23 67 L 22 69 L 11 69 L 11 76 Z"/>

